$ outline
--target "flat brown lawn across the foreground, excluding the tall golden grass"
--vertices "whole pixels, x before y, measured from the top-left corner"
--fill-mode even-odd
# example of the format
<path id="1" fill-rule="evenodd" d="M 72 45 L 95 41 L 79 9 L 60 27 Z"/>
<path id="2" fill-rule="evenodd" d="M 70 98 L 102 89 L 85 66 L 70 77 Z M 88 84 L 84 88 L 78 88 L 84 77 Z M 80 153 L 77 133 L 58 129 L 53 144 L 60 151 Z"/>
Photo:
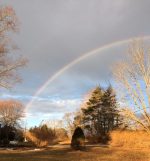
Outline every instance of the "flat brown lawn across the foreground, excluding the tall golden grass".
<path id="1" fill-rule="evenodd" d="M 87 147 L 74 151 L 62 146 L 42 151 L 0 150 L 0 161 L 150 161 L 150 149 Z"/>

